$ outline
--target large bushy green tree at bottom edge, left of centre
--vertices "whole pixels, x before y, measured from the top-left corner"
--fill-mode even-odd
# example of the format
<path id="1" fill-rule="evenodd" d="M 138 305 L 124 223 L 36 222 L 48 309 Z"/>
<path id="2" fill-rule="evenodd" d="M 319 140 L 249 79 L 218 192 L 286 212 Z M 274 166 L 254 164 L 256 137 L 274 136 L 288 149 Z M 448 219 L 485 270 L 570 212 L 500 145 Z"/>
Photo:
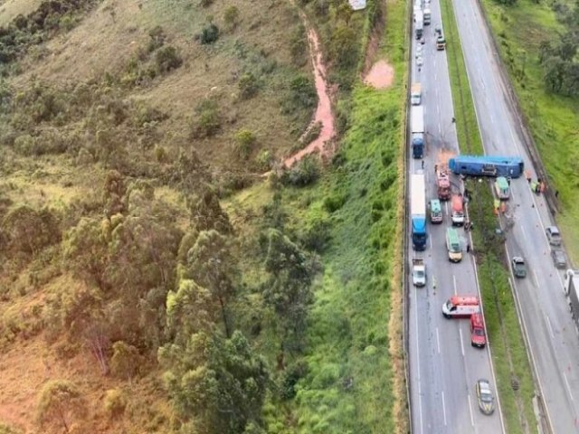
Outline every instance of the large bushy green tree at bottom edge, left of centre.
<path id="1" fill-rule="evenodd" d="M 230 339 L 194 335 L 184 349 L 164 349 L 162 360 L 167 353 L 180 361 L 164 379 L 177 411 L 191 418 L 187 432 L 242 434 L 261 426 L 269 375 L 241 332 Z"/>

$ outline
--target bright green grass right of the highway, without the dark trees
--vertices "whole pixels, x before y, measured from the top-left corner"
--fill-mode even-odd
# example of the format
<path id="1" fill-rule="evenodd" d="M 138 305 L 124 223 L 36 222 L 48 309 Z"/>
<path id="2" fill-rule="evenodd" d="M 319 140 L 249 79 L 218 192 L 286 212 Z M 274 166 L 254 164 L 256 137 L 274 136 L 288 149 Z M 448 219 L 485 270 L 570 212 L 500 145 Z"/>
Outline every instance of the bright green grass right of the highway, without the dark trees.
<path id="1" fill-rule="evenodd" d="M 579 99 L 568 99 L 546 92 L 543 69 L 538 63 L 538 46 L 555 38 L 563 27 L 546 3 L 518 0 L 502 7 L 492 0 L 481 0 L 500 46 L 500 55 L 514 84 L 549 181 L 559 190 L 562 204 L 557 218 L 565 236 L 565 248 L 579 264 Z M 520 71 L 524 69 L 524 78 Z"/>

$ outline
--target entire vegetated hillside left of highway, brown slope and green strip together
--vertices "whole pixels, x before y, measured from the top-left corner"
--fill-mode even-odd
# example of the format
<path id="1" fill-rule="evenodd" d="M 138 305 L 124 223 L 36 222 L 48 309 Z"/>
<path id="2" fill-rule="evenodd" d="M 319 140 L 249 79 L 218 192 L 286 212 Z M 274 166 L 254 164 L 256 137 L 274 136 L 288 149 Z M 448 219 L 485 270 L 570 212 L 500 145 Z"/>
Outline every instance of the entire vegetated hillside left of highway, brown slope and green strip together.
<path id="1" fill-rule="evenodd" d="M 376 93 L 356 74 L 379 2 L 301 2 L 345 145 L 250 188 L 316 105 L 296 8 L 131 7 L 41 1 L 0 29 L 0 397 L 23 415 L 0 410 L 0 430 L 403 430 L 404 5 L 388 11 L 395 85 Z M 130 51 L 59 64 L 84 27 L 132 34 Z M 33 396 L 10 381 L 21 353 Z"/>

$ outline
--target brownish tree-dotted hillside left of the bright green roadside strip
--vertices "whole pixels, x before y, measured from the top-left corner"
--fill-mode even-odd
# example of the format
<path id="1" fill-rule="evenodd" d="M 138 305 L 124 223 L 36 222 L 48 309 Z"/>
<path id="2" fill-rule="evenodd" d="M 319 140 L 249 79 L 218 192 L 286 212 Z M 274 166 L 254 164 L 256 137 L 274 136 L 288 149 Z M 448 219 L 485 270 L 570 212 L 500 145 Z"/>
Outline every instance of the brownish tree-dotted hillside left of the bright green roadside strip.
<path id="1" fill-rule="evenodd" d="M 339 135 L 369 3 L 0 1 L 0 433 L 296 432 L 331 238 L 281 199 L 326 170 L 281 167 L 319 134 L 299 10 Z"/>

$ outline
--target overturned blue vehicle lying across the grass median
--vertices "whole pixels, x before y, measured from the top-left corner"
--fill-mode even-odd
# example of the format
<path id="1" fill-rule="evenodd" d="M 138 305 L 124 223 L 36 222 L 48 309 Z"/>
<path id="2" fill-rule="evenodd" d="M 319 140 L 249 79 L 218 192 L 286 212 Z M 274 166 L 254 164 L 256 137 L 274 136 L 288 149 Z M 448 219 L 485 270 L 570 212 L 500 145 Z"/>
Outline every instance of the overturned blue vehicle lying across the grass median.
<path id="1" fill-rule="evenodd" d="M 525 163 L 518 156 L 456 156 L 449 159 L 449 167 L 456 175 L 518 178 Z"/>

